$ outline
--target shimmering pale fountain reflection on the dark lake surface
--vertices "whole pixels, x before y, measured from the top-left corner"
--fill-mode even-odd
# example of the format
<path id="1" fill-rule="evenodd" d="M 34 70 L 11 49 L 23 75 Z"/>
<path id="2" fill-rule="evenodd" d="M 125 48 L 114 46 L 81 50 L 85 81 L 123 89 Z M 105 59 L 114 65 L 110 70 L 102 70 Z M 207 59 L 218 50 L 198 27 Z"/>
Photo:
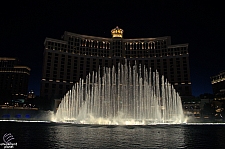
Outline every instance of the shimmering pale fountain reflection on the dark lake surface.
<path id="1" fill-rule="evenodd" d="M 156 148 L 183 147 L 184 132 L 181 127 L 166 126 L 86 126 L 60 125 L 54 134 L 57 147 L 84 148 Z M 53 133 L 53 132 L 51 132 Z"/>

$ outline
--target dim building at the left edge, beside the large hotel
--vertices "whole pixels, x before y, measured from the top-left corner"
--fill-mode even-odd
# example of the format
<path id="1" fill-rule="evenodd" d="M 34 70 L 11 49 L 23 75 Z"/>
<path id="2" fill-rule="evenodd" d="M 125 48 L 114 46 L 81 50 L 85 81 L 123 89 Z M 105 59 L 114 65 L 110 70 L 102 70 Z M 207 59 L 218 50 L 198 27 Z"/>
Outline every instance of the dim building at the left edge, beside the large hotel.
<path id="1" fill-rule="evenodd" d="M 26 99 L 30 68 L 16 58 L 0 57 L 0 104 Z"/>

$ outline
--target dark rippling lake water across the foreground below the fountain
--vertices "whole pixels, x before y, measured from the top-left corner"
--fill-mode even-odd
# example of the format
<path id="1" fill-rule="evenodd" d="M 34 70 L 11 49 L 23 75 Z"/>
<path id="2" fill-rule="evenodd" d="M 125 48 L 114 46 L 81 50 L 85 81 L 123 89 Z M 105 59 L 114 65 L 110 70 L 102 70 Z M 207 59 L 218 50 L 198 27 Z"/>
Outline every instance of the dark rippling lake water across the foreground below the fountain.
<path id="1" fill-rule="evenodd" d="M 0 122 L 14 148 L 225 148 L 225 125 L 99 126 Z M 3 145 L 0 148 L 4 148 Z"/>

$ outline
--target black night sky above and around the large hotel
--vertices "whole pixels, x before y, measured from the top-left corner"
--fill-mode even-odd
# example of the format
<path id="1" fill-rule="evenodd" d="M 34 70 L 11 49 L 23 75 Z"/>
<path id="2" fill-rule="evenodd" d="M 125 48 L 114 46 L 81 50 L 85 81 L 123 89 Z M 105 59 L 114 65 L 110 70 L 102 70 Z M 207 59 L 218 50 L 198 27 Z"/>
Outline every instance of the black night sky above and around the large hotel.
<path id="1" fill-rule="evenodd" d="M 0 57 L 17 57 L 31 68 L 29 90 L 40 92 L 44 40 L 64 31 L 111 38 L 171 36 L 189 43 L 192 93 L 212 93 L 210 77 L 225 70 L 225 12 L 221 3 L 179 1 L 18 1 L 0 9 Z"/>

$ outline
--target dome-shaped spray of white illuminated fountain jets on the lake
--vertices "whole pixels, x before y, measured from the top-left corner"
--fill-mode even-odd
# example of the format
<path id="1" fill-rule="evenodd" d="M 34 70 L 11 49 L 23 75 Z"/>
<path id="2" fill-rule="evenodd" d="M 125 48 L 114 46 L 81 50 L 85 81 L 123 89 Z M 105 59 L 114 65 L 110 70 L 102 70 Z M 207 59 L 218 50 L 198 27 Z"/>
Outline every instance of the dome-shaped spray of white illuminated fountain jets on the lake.
<path id="1" fill-rule="evenodd" d="M 143 69 L 143 70 L 142 70 Z M 80 79 L 62 99 L 55 120 L 82 124 L 181 123 L 181 98 L 159 73 L 118 64 Z"/>

